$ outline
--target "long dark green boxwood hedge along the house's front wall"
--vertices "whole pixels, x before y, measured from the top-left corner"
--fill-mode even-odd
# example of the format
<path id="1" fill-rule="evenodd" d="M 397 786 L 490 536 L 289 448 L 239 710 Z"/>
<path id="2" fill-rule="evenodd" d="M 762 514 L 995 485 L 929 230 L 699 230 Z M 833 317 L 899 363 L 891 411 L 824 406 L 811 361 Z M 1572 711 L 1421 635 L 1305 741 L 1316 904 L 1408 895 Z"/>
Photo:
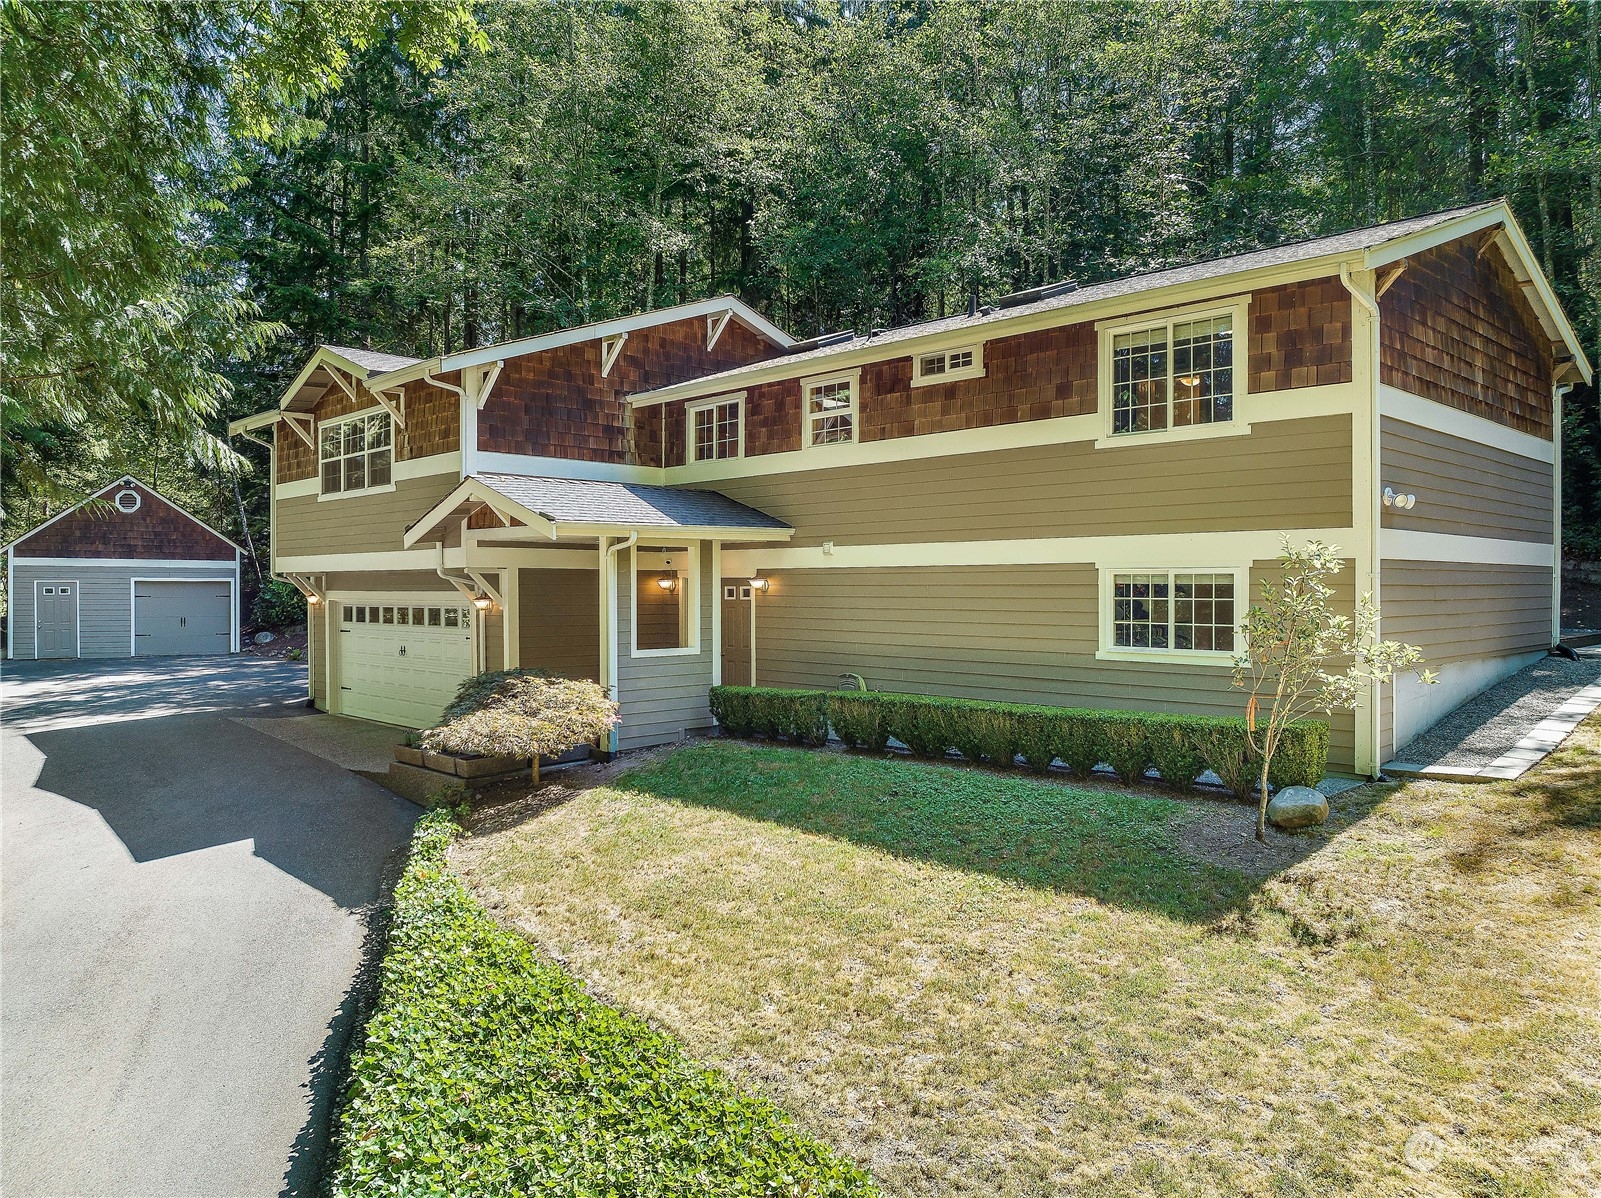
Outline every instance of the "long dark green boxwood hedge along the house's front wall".
<path id="1" fill-rule="evenodd" d="M 956 750 L 969 761 L 1002 767 L 1023 758 L 1039 772 L 1061 761 L 1081 777 L 1106 764 L 1126 782 L 1138 782 L 1154 767 L 1162 782 L 1178 790 L 1188 790 L 1212 770 L 1234 794 L 1246 796 L 1258 770 L 1246 721 L 1226 716 L 773 687 L 712 687 L 711 710 L 735 737 L 820 745 L 833 727 L 850 748 L 873 753 L 882 753 L 893 738 L 921 758 L 943 758 Z M 1284 730 L 1268 780 L 1274 786 L 1316 786 L 1327 766 L 1329 726 L 1302 719 Z"/>

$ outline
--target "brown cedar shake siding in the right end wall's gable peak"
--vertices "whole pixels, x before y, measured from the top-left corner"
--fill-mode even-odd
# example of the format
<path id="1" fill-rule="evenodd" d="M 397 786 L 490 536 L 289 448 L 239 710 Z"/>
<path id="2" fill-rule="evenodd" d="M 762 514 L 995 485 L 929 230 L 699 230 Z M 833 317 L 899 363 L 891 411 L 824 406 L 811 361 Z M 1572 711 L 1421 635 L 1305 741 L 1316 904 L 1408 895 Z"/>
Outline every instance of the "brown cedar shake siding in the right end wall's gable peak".
<path id="1" fill-rule="evenodd" d="M 1386 384 L 1551 439 L 1551 343 L 1500 250 L 1459 239 L 1414 255 L 1380 304 Z"/>

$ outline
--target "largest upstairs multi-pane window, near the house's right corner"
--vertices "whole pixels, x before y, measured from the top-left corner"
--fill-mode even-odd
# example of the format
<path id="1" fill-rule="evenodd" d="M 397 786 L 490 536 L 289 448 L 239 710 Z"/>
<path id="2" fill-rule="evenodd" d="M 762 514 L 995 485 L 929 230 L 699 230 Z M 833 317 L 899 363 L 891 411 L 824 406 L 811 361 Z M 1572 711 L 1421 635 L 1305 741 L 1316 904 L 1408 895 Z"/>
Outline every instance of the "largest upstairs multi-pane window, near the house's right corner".
<path id="1" fill-rule="evenodd" d="M 1111 431 L 1154 432 L 1234 418 L 1234 317 L 1207 316 L 1111 338 Z"/>

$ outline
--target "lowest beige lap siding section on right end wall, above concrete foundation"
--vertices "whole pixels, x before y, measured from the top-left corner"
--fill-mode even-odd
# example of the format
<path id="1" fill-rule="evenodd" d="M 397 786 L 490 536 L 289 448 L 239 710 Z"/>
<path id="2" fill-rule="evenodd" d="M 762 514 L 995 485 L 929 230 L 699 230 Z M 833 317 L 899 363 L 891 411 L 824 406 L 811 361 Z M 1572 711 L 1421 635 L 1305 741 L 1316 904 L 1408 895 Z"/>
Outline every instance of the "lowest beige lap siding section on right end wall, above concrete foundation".
<path id="1" fill-rule="evenodd" d="M 1430 666 L 1551 647 L 1547 565 L 1385 559 L 1380 578 L 1385 639 L 1418 645 Z"/>

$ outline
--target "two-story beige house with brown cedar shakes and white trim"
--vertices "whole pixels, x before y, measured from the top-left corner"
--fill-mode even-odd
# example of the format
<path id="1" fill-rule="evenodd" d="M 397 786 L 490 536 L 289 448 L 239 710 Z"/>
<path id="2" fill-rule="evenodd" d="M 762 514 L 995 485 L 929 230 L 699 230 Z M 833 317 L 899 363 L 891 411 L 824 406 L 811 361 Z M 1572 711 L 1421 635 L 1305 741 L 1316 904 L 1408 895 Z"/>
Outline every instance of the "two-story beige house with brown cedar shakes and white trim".
<path id="1" fill-rule="evenodd" d="M 325 346 L 272 431 L 317 706 L 424 726 L 543 666 L 618 746 L 719 681 L 1238 713 L 1281 541 L 1420 644 L 1332 719 L 1372 774 L 1558 637 L 1590 364 L 1505 203 L 797 343 L 732 298 L 429 360 Z"/>

